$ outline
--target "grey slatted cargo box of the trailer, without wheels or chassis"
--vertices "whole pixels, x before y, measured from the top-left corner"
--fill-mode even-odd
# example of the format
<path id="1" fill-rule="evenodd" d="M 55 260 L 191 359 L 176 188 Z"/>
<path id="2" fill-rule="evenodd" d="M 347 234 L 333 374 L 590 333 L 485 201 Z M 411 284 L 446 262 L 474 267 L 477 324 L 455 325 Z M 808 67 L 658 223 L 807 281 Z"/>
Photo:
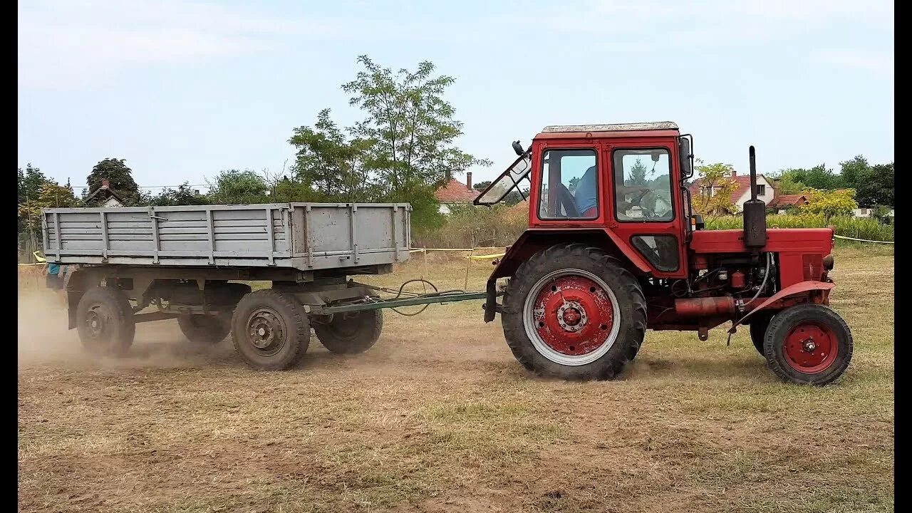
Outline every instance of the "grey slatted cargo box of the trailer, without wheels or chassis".
<path id="1" fill-rule="evenodd" d="M 385 266 L 409 258 L 409 204 L 43 210 L 48 262 L 155 267 Z"/>

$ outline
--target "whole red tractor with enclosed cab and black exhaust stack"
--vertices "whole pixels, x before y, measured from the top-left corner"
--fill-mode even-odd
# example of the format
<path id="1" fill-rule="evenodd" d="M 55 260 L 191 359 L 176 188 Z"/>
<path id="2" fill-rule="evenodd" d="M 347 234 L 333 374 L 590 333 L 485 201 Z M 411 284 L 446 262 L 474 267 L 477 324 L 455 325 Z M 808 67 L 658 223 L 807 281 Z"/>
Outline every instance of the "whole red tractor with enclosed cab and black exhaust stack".
<path id="1" fill-rule="evenodd" d="M 529 201 L 529 228 L 494 262 L 484 313 L 501 313 L 526 368 L 608 380 L 647 329 L 706 340 L 731 321 L 730 336 L 748 325 L 783 380 L 823 385 L 845 372 L 852 333 L 828 306 L 833 229 L 766 228 L 752 146 L 744 229 L 702 229 L 687 187 L 692 141 L 675 123 L 650 122 L 551 126 L 526 150 L 513 142 L 519 158 L 475 204 L 514 189 Z"/>

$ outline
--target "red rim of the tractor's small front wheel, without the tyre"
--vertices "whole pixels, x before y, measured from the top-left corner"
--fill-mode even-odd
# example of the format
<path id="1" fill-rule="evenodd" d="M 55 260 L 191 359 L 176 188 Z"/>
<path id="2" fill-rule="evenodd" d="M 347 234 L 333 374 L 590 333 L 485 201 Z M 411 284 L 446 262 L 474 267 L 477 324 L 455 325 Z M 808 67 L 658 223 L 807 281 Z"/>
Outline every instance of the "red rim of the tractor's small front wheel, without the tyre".
<path id="1" fill-rule="evenodd" d="M 839 341 L 836 334 L 823 323 L 803 321 L 793 326 L 785 336 L 782 355 L 795 371 L 805 374 L 824 372 L 836 361 Z"/>

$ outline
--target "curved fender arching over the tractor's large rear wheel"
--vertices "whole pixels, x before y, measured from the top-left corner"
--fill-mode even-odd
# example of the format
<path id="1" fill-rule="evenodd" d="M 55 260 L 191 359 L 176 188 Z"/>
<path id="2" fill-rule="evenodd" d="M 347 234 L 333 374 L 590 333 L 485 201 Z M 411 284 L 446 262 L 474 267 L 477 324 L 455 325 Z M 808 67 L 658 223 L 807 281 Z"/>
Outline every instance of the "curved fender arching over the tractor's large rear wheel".
<path id="1" fill-rule="evenodd" d="M 496 281 L 499 277 L 513 277 L 523 262 L 534 254 L 558 244 L 583 243 L 604 249 L 607 253 L 627 262 L 635 273 L 648 273 L 651 268 L 643 257 L 632 248 L 621 244 L 621 239 L 605 230 L 594 229 L 529 229 L 516 239 L 513 246 L 497 262 L 497 267 L 488 278 L 487 299 L 484 308 L 484 321 L 491 322 L 497 313 Z"/>

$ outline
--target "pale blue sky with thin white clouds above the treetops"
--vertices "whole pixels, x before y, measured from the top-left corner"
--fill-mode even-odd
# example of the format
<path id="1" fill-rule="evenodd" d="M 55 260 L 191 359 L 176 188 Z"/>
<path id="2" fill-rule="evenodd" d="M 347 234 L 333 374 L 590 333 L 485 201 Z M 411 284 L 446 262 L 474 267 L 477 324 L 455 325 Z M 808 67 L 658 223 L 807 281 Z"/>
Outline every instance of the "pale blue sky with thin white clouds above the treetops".
<path id="1" fill-rule="evenodd" d="M 28 0 L 18 21 L 19 165 L 77 193 L 108 157 L 143 187 L 287 171 L 295 127 L 359 119 L 362 54 L 456 79 L 458 144 L 494 162 L 474 183 L 556 124 L 676 121 L 704 162 L 755 145 L 760 173 L 894 158 L 889 0 Z"/>

